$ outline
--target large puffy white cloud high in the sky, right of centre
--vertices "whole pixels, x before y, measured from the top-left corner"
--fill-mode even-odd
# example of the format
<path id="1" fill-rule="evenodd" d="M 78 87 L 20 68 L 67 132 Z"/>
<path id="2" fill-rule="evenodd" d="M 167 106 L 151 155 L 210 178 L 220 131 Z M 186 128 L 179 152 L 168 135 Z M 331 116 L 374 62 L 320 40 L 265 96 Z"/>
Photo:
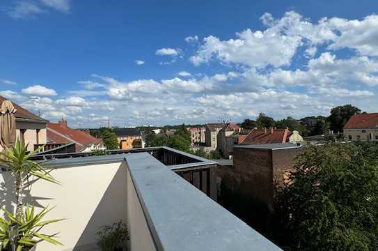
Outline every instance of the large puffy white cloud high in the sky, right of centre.
<path id="1" fill-rule="evenodd" d="M 220 40 L 214 36 L 204 38 L 195 56 L 190 61 L 195 66 L 219 59 L 224 63 L 237 63 L 246 66 L 265 68 L 288 66 L 297 47 L 301 44 L 299 36 L 283 36 L 266 31 L 246 29 L 237 33 L 237 39 Z"/>

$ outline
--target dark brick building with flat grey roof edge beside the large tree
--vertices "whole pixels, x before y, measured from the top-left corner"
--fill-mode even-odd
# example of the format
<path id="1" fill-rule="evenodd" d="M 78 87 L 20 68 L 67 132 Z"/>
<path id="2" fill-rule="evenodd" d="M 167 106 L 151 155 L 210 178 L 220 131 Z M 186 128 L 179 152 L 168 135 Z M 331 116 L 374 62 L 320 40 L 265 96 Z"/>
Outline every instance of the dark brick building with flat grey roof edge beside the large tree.
<path id="1" fill-rule="evenodd" d="M 269 211 L 274 211 L 276 188 L 287 181 L 295 158 L 305 149 L 299 143 L 234 146 L 233 162 L 219 162 L 219 182 L 264 202 Z"/>

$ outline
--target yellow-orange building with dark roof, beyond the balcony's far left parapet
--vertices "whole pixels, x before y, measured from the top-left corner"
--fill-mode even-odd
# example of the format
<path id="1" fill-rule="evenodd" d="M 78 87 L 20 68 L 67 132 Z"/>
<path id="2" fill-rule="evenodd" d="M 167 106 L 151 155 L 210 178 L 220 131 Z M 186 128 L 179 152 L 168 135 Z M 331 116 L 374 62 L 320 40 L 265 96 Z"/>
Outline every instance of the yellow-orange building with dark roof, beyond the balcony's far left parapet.
<path id="1" fill-rule="evenodd" d="M 135 128 L 116 128 L 114 132 L 117 135 L 120 149 L 139 149 L 145 146 L 141 132 Z"/>

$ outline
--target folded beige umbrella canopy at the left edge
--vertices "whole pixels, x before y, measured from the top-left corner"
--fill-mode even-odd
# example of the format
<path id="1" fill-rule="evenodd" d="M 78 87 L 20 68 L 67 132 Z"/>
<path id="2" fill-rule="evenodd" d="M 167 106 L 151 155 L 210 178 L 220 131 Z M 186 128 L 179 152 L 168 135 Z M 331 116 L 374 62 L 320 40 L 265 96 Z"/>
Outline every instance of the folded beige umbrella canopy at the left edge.
<path id="1" fill-rule="evenodd" d="M 3 149 L 10 148 L 16 142 L 16 112 L 12 102 L 3 101 L 0 108 L 0 145 Z"/>

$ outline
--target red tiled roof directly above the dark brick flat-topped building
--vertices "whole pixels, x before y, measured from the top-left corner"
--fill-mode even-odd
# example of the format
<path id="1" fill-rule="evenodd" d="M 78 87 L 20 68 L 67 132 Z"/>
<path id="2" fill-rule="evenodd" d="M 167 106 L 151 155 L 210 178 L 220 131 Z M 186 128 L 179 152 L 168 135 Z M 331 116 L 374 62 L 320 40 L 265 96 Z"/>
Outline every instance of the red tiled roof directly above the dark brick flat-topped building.
<path id="1" fill-rule="evenodd" d="M 245 139 L 240 143 L 242 145 L 251 144 L 271 144 L 271 143 L 285 143 L 289 141 L 291 135 L 288 129 L 255 129 L 251 130 Z"/>

